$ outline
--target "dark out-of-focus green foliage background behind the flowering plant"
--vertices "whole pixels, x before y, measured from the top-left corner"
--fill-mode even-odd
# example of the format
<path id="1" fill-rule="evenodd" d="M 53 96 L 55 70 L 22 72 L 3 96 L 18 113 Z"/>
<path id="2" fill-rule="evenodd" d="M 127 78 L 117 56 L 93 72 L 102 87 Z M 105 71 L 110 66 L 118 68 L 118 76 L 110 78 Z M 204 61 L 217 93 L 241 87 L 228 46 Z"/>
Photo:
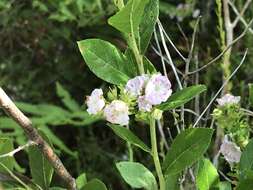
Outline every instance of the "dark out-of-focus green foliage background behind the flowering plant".
<path id="1" fill-rule="evenodd" d="M 239 10 L 244 2 L 235 1 Z M 160 1 L 160 21 L 185 56 L 189 53 L 196 18 L 201 15 L 194 54 L 199 65 L 221 52 L 216 10 L 214 0 Z M 35 127 L 47 134 L 74 176 L 85 172 L 88 178 L 97 177 L 108 187 L 127 189 L 114 165 L 127 157 L 125 143 L 113 135 L 105 122 L 85 112 L 85 95 L 107 84 L 89 71 L 76 43 L 101 38 L 123 50 L 125 42 L 120 33 L 107 24 L 107 18 L 115 11 L 113 0 L 0 0 L 0 86 L 32 119 Z M 252 17 L 251 4 L 245 20 Z M 238 24 L 234 35 L 240 35 L 244 28 Z M 151 44 L 156 46 L 154 40 Z M 234 45 L 232 70 L 246 48 L 249 49 L 247 59 L 233 79 L 232 88 L 235 95 L 242 97 L 247 97 L 248 83 L 253 80 L 251 33 Z M 184 70 L 185 63 L 172 48 L 171 54 L 177 68 Z M 152 47 L 147 56 L 162 71 L 161 59 Z M 175 81 L 170 67 L 167 70 L 170 80 Z M 200 73 L 199 82 L 208 86 L 208 95 L 202 100 L 204 106 L 222 84 L 219 61 Z M 169 127 L 173 122 L 166 124 Z M 13 137 L 16 145 L 27 141 L 23 132 L 4 114 L 0 117 L 0 129 L 0 135 Z M 134 130 L 148 142 L 145 126 Z M 149 157 L 138 151 L 136 159 L 151 163 Z M 27 160 L 25 153 L 18 153 L 15 168 L 29 175 Z M 59 183 L 57 176 L 54 182 Z"/>

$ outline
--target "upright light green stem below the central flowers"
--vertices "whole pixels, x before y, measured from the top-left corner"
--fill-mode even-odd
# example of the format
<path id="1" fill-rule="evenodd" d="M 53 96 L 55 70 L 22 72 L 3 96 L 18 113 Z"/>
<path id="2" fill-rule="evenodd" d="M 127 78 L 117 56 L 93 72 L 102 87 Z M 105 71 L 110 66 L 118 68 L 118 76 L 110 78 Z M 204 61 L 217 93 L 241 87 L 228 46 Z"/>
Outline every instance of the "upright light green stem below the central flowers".
<path id="1" fill-rule="evenodd" d="M 160 190 L 165 190 L 165 180 L 162 173 L 162 168 L 157 151 L 157 142 L 156 142 L 156 128 L 155 128 L 155 119 L 151 116 L 150 118 L 150 137 L 151 137 L 151 146 L 152 146 L 152 156 L 155 164 L 156 173 L 159 179 Z"/>

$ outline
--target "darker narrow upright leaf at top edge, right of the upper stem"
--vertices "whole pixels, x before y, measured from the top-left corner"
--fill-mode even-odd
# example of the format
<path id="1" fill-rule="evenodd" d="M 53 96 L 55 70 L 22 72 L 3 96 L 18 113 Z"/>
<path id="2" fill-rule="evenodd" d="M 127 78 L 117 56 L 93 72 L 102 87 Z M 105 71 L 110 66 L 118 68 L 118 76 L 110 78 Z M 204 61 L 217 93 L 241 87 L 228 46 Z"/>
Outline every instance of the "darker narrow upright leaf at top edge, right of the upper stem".
<path id="1" fill-rule="evenodd" d="M 149 45 L 150 39 L 155 29 L 155 24 L 159 15 L 159 1 L 149 0 L 146 5 L 140 24 L 140 49 L 144 55 Z"/>

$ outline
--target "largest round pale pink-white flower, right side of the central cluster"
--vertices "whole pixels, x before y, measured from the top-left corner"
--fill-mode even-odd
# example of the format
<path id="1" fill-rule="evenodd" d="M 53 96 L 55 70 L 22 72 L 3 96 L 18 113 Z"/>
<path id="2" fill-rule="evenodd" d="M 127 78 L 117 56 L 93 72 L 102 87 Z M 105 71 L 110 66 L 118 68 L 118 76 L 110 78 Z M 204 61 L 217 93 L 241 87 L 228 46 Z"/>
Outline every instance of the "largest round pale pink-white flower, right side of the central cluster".
<path id="1" fill-rule="evenodd" d="M 153 75 L 145 89 L 145 99 L 152 105 L 165 102 L 171 95 L 171 83 L 169 79 L 160 73 Z"/>

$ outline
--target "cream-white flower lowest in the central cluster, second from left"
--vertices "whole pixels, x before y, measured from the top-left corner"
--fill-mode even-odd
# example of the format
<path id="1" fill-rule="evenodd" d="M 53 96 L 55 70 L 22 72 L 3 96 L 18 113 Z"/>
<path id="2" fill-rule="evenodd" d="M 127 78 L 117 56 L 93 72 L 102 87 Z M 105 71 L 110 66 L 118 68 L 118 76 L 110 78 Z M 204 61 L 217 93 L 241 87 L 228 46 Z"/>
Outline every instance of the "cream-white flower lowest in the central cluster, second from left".
<path id="1" fill-rule="evenodd" d="M 128 114 L 128 106 L 121 100 L 113 100 L 104 109 L 104 116 L 106 120 L 113 124 L 128 125 Z"/>

